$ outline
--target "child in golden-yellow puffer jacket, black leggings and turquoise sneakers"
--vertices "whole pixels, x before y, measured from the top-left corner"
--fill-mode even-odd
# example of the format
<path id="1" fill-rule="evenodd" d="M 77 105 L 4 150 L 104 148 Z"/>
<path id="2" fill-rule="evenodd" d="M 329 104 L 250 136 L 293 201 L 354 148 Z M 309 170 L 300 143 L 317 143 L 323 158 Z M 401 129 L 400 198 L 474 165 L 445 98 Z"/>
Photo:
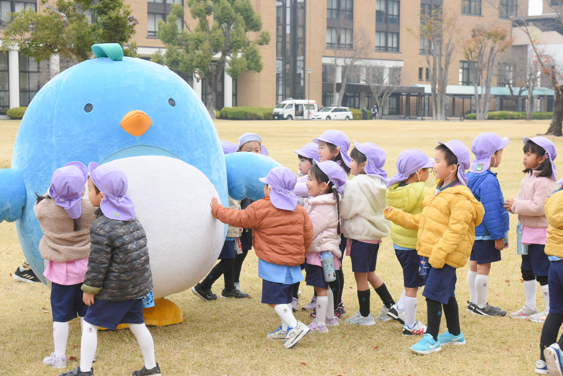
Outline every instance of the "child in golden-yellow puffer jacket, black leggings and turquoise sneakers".
<path id="1" fill-rule="evenodd" d="M 467 188 L 469 149 L 459 140 L 440 142 L 434 157 L 434 172 L 441 182 L 424 198 L 422 213 L 412 215 L 394 207 L 385 218 L 408 229 L 418 229 L 417 251 L 420 273 L 426 274 L 422 295 L 426 297 L 428 325 L 426 335 L 410 347 L 419 354 L 440 351 L 441 345 L 465 344 L 459 328 L 459 308 L 455 300 L 455 269 L 463 267 L 475 241 L 475 227 L 485 210 Z M 429 264 L 429 265 L 428 265 Z M 444 311 L 448 331 L 440 331 Z"/>

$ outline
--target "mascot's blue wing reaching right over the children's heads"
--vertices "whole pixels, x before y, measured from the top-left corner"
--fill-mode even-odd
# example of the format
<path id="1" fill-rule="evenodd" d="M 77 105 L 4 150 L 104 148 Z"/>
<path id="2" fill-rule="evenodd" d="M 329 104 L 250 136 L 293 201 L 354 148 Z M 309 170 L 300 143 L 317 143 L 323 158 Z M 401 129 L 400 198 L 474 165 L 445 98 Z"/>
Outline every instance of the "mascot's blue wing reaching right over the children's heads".
<path id="1" fill-rule="evenodd" d="M 271 169 L 281 166 L 270 157 L 257 153 L 240 152 L 225 155 L 229 196 L 240 201 L 245 197 L 252 200 L 264 198 L 264 178 Z"/>

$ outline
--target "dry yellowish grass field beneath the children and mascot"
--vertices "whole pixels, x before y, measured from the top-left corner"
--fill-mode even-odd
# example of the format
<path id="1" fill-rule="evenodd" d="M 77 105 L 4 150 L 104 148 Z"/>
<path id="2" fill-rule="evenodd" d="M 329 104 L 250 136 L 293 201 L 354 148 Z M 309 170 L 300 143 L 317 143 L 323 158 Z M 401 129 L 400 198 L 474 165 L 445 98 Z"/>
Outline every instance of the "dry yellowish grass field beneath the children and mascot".
<path id="1" fill-rule="evenodd" d="M 10 167 L 17 121 L 0 121 L 0 168 Z M 522 174 L 522 137 L 547 130 L 548 121 L 216 121 L 221 140 L 235 141 L 243 132 L 256 132 L 270 157 L 297 171 L 293 150 L 310 142 L 324 130 L 337 127 L 360 142 L 372 141 L 387 152 L 386 170 L 394 174 L 396 157 L 408 148 L 418 148 L 434 156 L 437 141 L 460 139 L 468 147 L 473 138 L 486 131 L 508 136 L 497 169 L 504 197 L 515 197 Z M 552 138 L 563 153 L 563 139 Z M 563 156 L 560 157 L 563 160 Z M 558 160 L 559 161 L 559 160 Z M 557 161 L 557 162 L 558 162 Z M 561 166 L 561 163 L 559 163 Z M 563 167 L 561 167 L 563 171 Z M 561 178 L 561 172 L 559 178 Z M 431 182 L 427 182 L 431 185 Z M 511 215 L 510 248 L 503 260 L 493 264 L 488 298 L 508 312 L 524 304 L 520 282 L 520 257 L 516 254 L 516 216 Z M 22 253 L 15 225 L 0 224 L 0 373 L 6 375 L 57 375 L 60 370 L 44 366 L 44 356 L 52 351 L 50 291 L 43 284 L 25 284 L 10 277 Z M 356 287 L 350 260 L 345 259 L 345 302 L 351 316 L 358 309 Z M 379 251 L 377 273 L 397 299 L 403 291 L 403 276 L 389 238 Z M 261 281 L 257 277 L 257 258 L 249 253 L 243 267 L 241 285 L 254 299 L 203 302 L 191 293 L 171 295 L 184 313 L 184 323 L 163 328 L 151 327 L 157 361 L 164 375 L 526 375 L 533 374 L 539 356 L 541 325 L 508 317 L 476 317 L 464 303 L 468 299 L 467 266 L 458 271 L 456 295 L 460 303 L 461 329 L 465 346 L 444 347 L 429 356 L 413 355 L 408 347 L 419 338 L 403 337 L 400 324 L 392 321 L 370 327 L 342 324 L 328 334 L 307 335 L 295 348 L 284 350 L 281 342 L 265 339 L 279 326 L 278 317 L 260 303 Z M 214 291 L 220 293 L 222 278 Z M 538 286 L 539 287 L 539 286 Z M 301 304 L 309 302 L 311 287 L 302 284 Z M 426 322 L 426 303 L 419 294 L 418 319 Z M 538 288 L 538 307 L 544 303 Z M 44 313 L 44 309 L 48 313 Z M 381 311 L 381 301 L 372 293 L 372 311 Z M 297 313 L 298 320 L 309 324 L 310 317 Z M 445 320 L 441 331 L 445 331 Z M 79 357 L 79 323 L 70 325 L 67 357 Z M 99 334 L 96 375 L 128 375 L 140 369 L 142 357 L 129 330 Z M 67 370 L 77 366 L 69 361 Z"/>

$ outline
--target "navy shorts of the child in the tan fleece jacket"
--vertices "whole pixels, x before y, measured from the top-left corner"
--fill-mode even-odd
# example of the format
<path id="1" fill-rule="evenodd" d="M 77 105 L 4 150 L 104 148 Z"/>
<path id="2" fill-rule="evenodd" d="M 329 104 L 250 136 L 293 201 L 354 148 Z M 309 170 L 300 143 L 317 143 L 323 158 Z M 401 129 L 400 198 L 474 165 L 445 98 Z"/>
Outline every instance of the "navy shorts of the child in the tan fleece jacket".
<path id="1" fill-rule="evenodd" d="M 59 285 L 51 284 L 51 311 L 53 321 L 66 322 L 76 319 L 77 316 L 84 317 L 88 306 L 84 304 L 82 297 L 84 292 L 80 289 L 83 284 Z"/>

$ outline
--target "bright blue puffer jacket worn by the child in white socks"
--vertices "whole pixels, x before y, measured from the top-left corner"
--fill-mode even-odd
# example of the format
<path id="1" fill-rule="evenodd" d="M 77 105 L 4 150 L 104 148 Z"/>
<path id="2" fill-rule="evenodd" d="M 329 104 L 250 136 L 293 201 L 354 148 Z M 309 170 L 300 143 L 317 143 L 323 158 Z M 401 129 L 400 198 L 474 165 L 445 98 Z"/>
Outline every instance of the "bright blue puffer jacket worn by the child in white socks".
<path id="1" fill-rule="evenodd" d="M 467 173 L 467 188 L 485 208 L 483 221 L 475 227 L 475 236 L 490 236 L 492 240 L 504 238 L 510 229 L 508 211 L 504 209 L 504 197 L 497 173 L 486 170 L 480 174 Z"/>

